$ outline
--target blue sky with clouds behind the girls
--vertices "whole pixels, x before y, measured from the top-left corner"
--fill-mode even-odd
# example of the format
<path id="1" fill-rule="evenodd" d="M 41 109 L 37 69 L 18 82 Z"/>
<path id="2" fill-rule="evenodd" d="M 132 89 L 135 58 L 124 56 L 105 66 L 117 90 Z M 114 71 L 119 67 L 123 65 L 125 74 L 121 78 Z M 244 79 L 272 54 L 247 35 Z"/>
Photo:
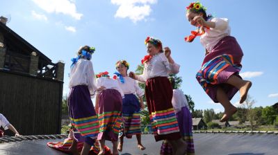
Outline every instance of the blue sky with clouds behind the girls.
<path id="1" fill-rule="evenodd" d="M 115 71 L 117 60 L 127 60 L 134 71 L 146 55 L 147 36 L 161 39 L 181 64 L 181 89 L 191 95 L 195 109 L 223 111 L 204 93 L 195 80 L 204 58 L 196 39 L 183 38 L 194 30 L 185 13 L 191 1 L 181 0 L 3 0 L 0 15 L 11 17 L 7 24 L 54 63 L 65 62 L 64 94 L 69 91 L 71 58 L 80 46 L 95 46 L 92 63 L 95 73 Z M 255 107 L 278 102 L 276 0 L 203 0 L 207 12 L 230 21 L 231 35 L 243 49 L 241 75 L 253 82 L 250 95 Z M 276 80 L 275 80 L 276 79 Z M 231 100 L 238 104 L 239 95 Z"/>

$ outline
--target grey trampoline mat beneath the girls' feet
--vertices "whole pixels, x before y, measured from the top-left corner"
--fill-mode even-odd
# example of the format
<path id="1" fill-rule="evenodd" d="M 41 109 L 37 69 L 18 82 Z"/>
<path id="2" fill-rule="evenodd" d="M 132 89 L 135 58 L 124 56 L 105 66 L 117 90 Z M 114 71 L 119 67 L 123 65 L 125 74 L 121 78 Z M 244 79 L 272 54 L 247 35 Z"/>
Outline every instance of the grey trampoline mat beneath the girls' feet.
<path id="1" fill-rule="evenodd" d="M 278 135 L 276 134 L 193 134 L 195 154 L 206 155 L 276 155 L 278 154 Z M 63 141 L 63 139 L 22 140 L 19 142 L 0 143 L 0 154 L 64 154 L 47 147 L 47 142 Z M 137 148 L 136 137 L 124 138 L 122 155 L 157 155 L 160 153 L 161 141 L 155 142 L 152 134 L 142 135 L 142 144 L 146 149 Z M 112 148 L 112 143 L 106 141 Z"/>

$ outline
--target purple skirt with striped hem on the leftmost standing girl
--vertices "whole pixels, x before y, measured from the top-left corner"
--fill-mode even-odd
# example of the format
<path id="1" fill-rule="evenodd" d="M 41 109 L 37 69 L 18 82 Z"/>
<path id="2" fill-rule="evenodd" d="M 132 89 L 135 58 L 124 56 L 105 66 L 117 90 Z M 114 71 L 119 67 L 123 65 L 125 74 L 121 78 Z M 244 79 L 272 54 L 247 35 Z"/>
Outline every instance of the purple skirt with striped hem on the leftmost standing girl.
<path id="1" fill-rule="evenodd" d="M 88 86 L 73 86 L 67 102 L 72 127 L 79 131 L 85 142 L 93 145 L 99 134 L 99 119 L 90 98 Z"/>

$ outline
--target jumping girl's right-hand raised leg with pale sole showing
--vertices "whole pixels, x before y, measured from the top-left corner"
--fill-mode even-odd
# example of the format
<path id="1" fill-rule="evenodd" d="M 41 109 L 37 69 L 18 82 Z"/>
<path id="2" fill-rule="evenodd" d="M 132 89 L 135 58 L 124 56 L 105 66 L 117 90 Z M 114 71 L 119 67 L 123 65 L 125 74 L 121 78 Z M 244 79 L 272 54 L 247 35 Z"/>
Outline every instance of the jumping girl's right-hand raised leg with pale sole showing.
<path id="1" fill-rule="evenodd" d="M 252 86 L 252 82 L 247 80 L 242 80 L 238 78 L 236 75 L 231 75 L 230 78 L 227 80 L 227 84 L 231 84 L 236 86 L 240 93 L 240 103 L 243 103 L 247 98 L 247 93 Z"/>

